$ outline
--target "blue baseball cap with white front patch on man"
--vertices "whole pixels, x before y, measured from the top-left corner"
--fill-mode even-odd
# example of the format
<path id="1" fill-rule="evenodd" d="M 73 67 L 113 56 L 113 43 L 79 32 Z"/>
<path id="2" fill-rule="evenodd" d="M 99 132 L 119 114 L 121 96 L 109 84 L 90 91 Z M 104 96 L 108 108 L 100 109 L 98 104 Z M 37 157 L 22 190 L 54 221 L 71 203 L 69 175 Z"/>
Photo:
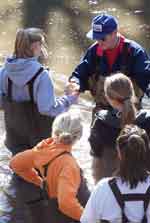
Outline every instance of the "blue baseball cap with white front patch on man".
<path id="1" fill-rule="evenodd" d="M 92 20 L 92 29 L 87 33 L 87 37 L 93 40 L 100 40 L 112 33 L 118 27 L 117 19 L 108 14 L 101 14 Z"/>

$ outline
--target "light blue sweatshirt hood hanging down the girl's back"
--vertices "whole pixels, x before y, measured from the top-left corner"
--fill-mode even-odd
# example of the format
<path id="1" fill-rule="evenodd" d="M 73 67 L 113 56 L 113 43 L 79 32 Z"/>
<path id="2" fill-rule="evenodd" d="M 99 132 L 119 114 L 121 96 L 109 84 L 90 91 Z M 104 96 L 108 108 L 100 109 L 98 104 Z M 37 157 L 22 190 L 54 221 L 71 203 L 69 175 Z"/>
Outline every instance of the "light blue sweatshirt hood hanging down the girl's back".
<path id="1" fill-rule="evenodd" d="M 24 86 L 36 74 L 42 65 L 37 57 L 32 58 L 7 58 L 3 72 L 17 86 Z"/>

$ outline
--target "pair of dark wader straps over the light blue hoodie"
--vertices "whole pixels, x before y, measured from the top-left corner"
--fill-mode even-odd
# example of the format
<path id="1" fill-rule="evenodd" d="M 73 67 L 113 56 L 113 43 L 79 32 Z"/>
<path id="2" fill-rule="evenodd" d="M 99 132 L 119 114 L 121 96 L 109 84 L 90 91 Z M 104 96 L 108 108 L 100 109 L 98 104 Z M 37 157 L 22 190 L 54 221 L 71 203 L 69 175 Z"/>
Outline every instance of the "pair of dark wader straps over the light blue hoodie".
<path id="1" fill-rule="evenodd" d="M 35 75 L 32 77 L 30 81 L 27 82 L 27 85 L 29 85 L 29 95 L 31 98 L 31 101 L 33 102 L 33 83 L 37 76 L 44 70 L 43 67 L 40 67 L 40 69 L 35 73 Z M 8 78 L 8 99 L 12 100 L 12 80 Z"/>

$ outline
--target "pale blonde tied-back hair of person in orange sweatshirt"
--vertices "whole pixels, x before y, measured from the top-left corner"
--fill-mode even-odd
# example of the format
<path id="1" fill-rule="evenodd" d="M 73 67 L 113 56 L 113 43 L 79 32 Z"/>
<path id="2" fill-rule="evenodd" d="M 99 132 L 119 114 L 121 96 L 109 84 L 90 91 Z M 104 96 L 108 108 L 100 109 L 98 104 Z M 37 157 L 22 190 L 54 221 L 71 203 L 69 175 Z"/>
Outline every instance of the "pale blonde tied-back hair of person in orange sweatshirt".
<path id="1" fill-rule="evenodd" d="M 64 144 L 73 144 L 81 138 L 83 126 L 80 116 L 65 112 L 56 117 L 52 126 L 52 137 Z"/>

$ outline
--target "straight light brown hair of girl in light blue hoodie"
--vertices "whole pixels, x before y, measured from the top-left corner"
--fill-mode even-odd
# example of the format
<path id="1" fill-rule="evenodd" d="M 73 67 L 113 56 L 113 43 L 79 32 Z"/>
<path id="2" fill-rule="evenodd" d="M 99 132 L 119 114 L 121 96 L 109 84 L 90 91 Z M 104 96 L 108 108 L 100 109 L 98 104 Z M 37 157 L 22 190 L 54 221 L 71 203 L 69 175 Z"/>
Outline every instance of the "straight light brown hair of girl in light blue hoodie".
<path id="1" fill-rule="evenodd" d="M 39 28 L 26 28 L 19 29 L 16 34 L 14 53 L 16 58 L 28 58 L 33 57 L 33 51 L 31 45 L 34 42 L 41 42 L 43 51 L 46 50 L 45 34 Z M 45 51 L 45 54 L 47 52 Z M 43 57 L 45 57 L 43 53 Z"/>

